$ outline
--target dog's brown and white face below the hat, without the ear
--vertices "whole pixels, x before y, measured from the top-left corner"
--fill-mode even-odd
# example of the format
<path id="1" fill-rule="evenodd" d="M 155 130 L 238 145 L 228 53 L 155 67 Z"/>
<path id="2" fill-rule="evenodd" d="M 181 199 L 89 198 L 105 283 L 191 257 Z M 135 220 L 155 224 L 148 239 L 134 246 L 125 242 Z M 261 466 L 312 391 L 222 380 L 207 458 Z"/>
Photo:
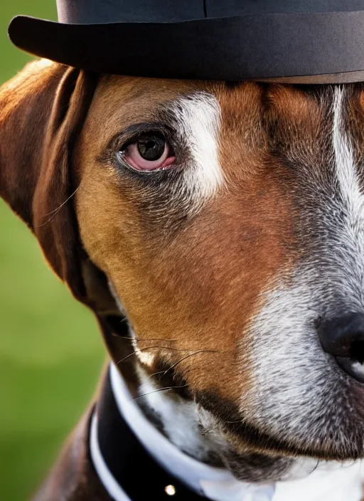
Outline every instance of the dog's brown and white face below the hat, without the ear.
<path id="1" fill-rule="evenodd" d="M 237 454 L 363 455 L 364 386 L 317 332 L 364 309 L 363 96 L 103 76 L 73 147 L 80 241 L 144 369 Z"/>

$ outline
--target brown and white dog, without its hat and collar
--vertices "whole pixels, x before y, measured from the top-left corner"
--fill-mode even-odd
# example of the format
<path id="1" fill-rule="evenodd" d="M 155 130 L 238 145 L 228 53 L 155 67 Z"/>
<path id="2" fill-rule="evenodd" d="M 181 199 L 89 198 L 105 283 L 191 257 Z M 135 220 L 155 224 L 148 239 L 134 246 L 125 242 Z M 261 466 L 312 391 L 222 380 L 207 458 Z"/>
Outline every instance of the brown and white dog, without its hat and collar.
<path id="1" fill-rule="evenodd" d="M 0 195 L 171 443 L 252 483 L 363 457 L 364 386 L 318 329 L 364 312 L 364 85 L 38 61 L 0 107 Z M 110 499 L 90 413 L 37 500 Z"/>

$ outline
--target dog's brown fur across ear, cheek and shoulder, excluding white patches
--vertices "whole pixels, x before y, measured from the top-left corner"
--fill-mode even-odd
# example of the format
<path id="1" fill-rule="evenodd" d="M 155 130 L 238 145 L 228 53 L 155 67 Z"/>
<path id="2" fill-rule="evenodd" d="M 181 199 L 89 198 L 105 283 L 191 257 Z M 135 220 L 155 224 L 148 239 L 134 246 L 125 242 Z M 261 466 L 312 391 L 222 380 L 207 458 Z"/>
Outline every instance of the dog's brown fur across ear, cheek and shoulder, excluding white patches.
<path id="1" fill-rule="evenodd" d="M 225 184 L 198 214 L 178 218 L 158 191 L 120 173 L 110 151 L 126 127 L 155 120 L 162 104 L 196 90 L 215 95 L 222 110 Z M 323 118 L 314 97 L 277 84 L 96 78 L 33 63 L 2 88 L 0 104 L 0 195 L 31 227 L 55 273 L 101 325 L 117 314 L 106 276 L 146 339 L 139 347 L 156 356 L 150 371 L 176 364 L 191 396 L 238 401 L 252 377 L 247 333 L 261 292 L 300 255 L 280 152 L 297 154 L 304 135 L 302 154 L 315 156 Z M 119 362 L 130 348 L 107 332 Z M 198 353 L 180 360 L 183 350 Z M 38 500 L 60 492 L 67 501 L 107 499 L 87 459 L 88 419 Z M 232 440 L 242 446 L 241 437 Z"/>

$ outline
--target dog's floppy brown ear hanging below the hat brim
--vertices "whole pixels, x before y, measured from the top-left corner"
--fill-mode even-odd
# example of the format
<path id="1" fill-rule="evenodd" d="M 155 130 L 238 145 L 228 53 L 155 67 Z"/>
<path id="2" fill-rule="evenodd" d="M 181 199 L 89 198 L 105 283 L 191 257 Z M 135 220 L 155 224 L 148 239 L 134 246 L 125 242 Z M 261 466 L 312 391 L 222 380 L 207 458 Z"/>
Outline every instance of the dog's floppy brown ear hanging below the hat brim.
<path id="1" fill-rule="evenodd" d="M 96 77 L 38 61 L 0 90 L 0 196 L 26 221 L 45 258 L 75 297 L 88 303 L 73 210 L 73 145 Z"/>

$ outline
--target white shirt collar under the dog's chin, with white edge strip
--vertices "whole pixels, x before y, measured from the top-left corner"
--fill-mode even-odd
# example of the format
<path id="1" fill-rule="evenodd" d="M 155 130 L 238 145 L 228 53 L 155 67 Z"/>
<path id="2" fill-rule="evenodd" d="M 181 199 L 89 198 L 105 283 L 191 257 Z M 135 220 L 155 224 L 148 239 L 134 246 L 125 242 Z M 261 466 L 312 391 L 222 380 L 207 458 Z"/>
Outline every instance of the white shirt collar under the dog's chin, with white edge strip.
<path id="1" fill-rule="evenodd" d="M 122 376 L 110 368 L 112 391 L 119 412 L 144 448 L 171 475 L 213 501 L 359 501 L 361 498 L 360 462 L 350 465 L 325 463 L 301 480 L 259 485 L 237 480 L 225 468 L 215 468 L 181 452 L 162 435 L 135 404 Z M 127 496 L 116 484 L 102 460 L 97 444 L 94 418 L 90 437 L 92 460 L 105 488 L 117 501 Z M 119 489 L 118 489 L 119 487 Z"/>

